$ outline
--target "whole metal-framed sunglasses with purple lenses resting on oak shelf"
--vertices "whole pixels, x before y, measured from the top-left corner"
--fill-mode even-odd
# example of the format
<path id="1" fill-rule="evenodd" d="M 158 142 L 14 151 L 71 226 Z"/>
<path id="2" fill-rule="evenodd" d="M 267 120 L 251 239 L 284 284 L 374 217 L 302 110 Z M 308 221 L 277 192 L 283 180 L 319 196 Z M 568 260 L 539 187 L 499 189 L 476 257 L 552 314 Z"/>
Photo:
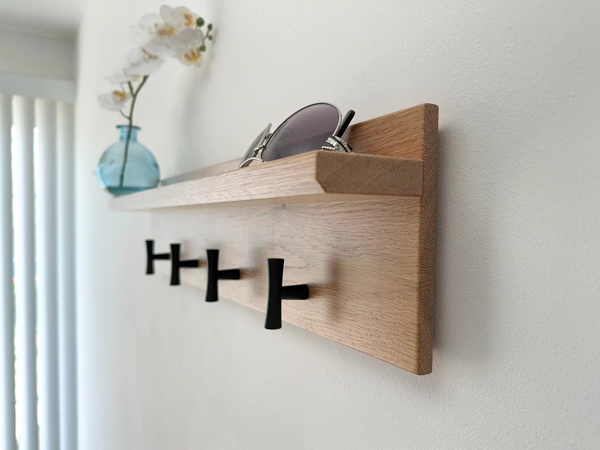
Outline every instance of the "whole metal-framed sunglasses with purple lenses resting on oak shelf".
<path id="1" fill-rule="evenodd" d="M 332 143 L 329 137 L 335 137 L 335 142 L 343 143 L 340 147 L 343 151 L 352 151 L 341 140 L 341 136 L 354 114 L 353 110 L 349 110 L 342 118 L 340 109 L 331 103 L 305 106 L 289 116 L 274 133 L 269 133 L 271 124 L 267 125 L 254 139 L 239 167 L 246 167 L 252 161 L 265 163 L 320 148 L 331 149 L 324 146 L 326 142 Z"/>

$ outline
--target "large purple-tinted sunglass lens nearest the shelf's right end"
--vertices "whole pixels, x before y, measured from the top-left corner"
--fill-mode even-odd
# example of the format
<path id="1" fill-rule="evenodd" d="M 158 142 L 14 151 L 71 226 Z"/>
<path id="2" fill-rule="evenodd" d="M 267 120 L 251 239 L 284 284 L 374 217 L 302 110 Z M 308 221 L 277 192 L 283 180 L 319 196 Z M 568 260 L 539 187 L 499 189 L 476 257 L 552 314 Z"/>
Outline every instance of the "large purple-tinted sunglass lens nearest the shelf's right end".
<path id="1" fill-rule="evenodd" d="M 319 150 L 340 122 L 338 109 L 327 103 L 307 106 L 292 115 L 273 133 L 262 159 L 274 161 Z"/>

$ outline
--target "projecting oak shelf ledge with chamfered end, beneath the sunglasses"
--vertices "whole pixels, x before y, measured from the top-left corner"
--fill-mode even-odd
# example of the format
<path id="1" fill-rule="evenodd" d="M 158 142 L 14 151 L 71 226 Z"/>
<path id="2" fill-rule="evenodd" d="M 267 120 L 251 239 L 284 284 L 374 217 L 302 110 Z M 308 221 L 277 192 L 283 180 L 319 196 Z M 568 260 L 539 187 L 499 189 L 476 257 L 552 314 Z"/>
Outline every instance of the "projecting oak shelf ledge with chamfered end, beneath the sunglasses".
<path id="1" fill-rule="evenodd" d="M 420 196 L 422 172 L 421 160 L 312 151 L 119 197 L 112 200 L 112 207 L 131 210 L 255 200 L 282 205 Z"/>

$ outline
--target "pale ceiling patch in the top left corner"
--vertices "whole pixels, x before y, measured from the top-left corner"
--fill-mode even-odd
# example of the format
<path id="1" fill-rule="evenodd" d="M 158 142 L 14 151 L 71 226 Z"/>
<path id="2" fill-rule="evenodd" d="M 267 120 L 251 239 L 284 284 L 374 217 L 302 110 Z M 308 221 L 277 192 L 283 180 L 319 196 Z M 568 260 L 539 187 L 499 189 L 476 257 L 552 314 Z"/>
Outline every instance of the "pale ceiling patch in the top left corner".
<path id="1" fill-rule="evenodd" d="M 74 37 L 87 0 L 0 0 L 0 26 Z"/>

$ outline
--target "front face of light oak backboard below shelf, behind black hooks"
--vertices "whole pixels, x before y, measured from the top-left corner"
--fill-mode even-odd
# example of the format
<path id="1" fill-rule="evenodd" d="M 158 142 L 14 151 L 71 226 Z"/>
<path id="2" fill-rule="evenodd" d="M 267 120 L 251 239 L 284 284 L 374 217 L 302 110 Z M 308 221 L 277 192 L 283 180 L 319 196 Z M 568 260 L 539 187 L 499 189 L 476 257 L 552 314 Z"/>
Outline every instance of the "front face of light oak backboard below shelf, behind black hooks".
<path id="1" fill-rule="evenodd" d="M 428 373 L 419 362 L 419 202 L 419 197 L 406 197 L 160 209 L 152 212 L 152 237 L 157 251 L 181 242 L 182 257 L 203 260 L 199 269 L 181 271 L 183 283 L 202 289 L 198 301 L 204 301 L 206 249 L 218 248 L 220 269 L 242 272 L 241 280 L 219 281 L 221 301 L 259 311 L 266 308 L 266 259 L 284 258 L 284 284 L 310 285 L 307 301 L 283 301 L 285 322 L 413 373 Z M 156 266 L 159 273 L 170 273 L 168 261 Z M 263 324 L 260 317 L 256 326 Z"/>

